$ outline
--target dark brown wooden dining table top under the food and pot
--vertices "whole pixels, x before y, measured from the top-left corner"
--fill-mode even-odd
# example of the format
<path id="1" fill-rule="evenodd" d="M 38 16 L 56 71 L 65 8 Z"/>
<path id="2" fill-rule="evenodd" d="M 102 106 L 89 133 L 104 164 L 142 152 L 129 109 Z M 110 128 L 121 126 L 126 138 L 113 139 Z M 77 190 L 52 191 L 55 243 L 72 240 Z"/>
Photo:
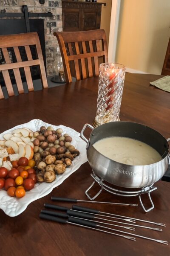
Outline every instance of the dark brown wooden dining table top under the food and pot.
<path id="1" fill-rule="evenodd" d="M 121 121 L 147 125 L 159 131 L 165 138 L 169 138 L 170 93 L 150 85 L 150 81 L 160 77 L 126 73 L 119 117 Z M 51 125 L 65 125 L 80 132 L 85 123 L 92 124 L 94 120 L 97 91 L 98 77 L 95 77 L 3 99 L 0 101 L 0 132 L 31 119 L 41 119 Z M 88 137 L 90 132 L 87 129 L 85 135 Z M 170 255 L 170 245 L 156 241 L 139 237 L 136 237 L 136 241 L 130 241 L 96 230 L 39 218 L 45 203 L 55 204 L 51 201 L 51 196 L 88 200 L 85 190 L 93 182 L 91 172 L 89 163 L 84 163 L 51 193 L 33 201 L 16 217 L 9 217 L 0 209 L 0 256 Z M 82 203 L 81 206 L 96 208 L 101 212 L 165 223 L 166 227 L 160 227 L 136 221 L 138 225 L 162 228 L 162 232 L 140 227 L 136 227 L 135 231 L 124 231 L 170 242 L 170 183 L 159 180 L 154 186 L 157 189 L 151 192 L 151 198 L 155 208 L 147 213 L 140 206 L 138 196 L 122 197 L 104 190 L 96 201 L 139 204 L 139 207 L 91 203 Z M 96 184 L 90 193 L 94 195 L 99 190 L 100 186 Z M 150 207 L 147 195 L 143 195 L 143 201 Z M 71 208 L 75 203 L 60 202 L 58 204 Z M 77 205 L 80 204 L 77 203 Z M 117 229 L 120 230 L 120 228 Z"/>

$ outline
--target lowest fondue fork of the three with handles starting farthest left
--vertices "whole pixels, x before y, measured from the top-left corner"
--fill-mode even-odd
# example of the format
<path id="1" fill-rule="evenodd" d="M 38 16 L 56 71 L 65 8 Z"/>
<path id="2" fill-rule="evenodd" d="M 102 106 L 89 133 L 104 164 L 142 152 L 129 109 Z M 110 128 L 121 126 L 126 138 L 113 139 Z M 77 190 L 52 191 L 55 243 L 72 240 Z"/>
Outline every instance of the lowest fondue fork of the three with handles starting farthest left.
<path id="1" fill-rule="evenodd" d="M 65 220 L 63 218 L 57 218 L 55 216 L 51 216 L 51 215 L 44 214 L 44 213 L 40 213 L 39 217 L 43 218 L 43 219 L 46 219 L 46 220 L 49 220 L 49 221 L 56 221 L 56 222 L 60 222 L 60 223 L 64 223 L 64 224 L 71 224 L 71 225 L 75 225 L 75 226 L 79 226 L 79 227 L 85 227 L 85 228 L 88 228 L 88 229 L 91 229 L 91 230 L 96 230 L 96 231 L 100 231 L 100 232 L 103 232 L 103 233 L 108 233 L 108 234 L 111 234 L 111 235 L 114 235 L 114 236 L 120 236 L 120 237 L 123 237 L 123 238 L 126 238 L 126 239 L 130 239 L 132 241 L 136 241 L 135 237 L 124 236 L 124 235 L 120 235 L 120 234 L 117 234 L 117 233 L 108 232 L 106 230 L 97 229 L 97 228 L 94 228 L 94 225 L 93 225 L 93 227 L 88 227 L 88 223 L 86 221 L 83 221 L 82 223 L 84 225 L 82 225 L 82 224 L 77 224 L 77 223 Z"/>

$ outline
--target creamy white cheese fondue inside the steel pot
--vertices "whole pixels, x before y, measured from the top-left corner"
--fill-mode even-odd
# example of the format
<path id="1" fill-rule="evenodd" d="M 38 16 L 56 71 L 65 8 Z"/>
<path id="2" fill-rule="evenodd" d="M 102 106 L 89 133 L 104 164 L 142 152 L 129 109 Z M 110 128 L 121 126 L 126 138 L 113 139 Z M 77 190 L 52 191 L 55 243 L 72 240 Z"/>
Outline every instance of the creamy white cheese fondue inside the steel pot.
<path id="1" fill-rule="evenodd" d="M 105 157 L 128 165 L 148 165 L 162 159 L 154 148 L 127 137 L 108 137 L 98 140 L 93 146 Z"/>

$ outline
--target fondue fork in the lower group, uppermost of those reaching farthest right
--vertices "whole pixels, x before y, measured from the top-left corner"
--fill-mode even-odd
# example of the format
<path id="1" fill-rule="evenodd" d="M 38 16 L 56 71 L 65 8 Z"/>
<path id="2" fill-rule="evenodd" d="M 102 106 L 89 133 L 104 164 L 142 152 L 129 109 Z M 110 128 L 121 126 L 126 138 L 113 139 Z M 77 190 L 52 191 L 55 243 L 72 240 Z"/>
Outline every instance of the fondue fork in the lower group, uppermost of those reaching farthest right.
<path id="1" fill-rule="evenodd" d="M 166 224 L 164 224 L 164 223 L 157 223 L 157 222 L 153 222 L 153 221 L 146 221 L 146 220 L 142 220 L 142 219 L 138 219 L 138 218 L 131 218 L 131 217 L 122 216 L 122 215 L 118 215 L 118 214 L 113 214 L 113 213 L 109 213 L 109 212 L 100 212 L 97 209 L 80 207 L 80 206 L 77 206 L 77 205 L 73 205 L 72 209 L 73 210 L 77 210 L 77 211 L 82 211 L 82 212 L 94 213 L 94 214 L 98 214 L 98 215 L 99 215 L 99 213 L 105 213 L 105 214 L 108 214 L 108 215 L 119 216 L 119 217 L 122 217 L 122 218 L 130 218 L 130 220 L 133 219 L 134 221 L 142 221 L 142 222 L 147 222 L 147 223 L 155 224 L 155 225 L 158 225 L 158 226 L 166 227 Z M 106 216 L 106 215 L 105 215 L 105 217 L 111 218 L 110 216 Z"/>

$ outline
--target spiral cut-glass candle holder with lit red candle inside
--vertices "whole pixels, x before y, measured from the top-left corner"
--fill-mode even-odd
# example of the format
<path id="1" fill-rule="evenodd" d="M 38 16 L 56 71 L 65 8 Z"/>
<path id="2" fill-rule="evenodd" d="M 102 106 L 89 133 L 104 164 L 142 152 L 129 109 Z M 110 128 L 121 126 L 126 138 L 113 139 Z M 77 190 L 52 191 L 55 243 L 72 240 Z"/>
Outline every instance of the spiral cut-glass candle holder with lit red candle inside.
<path id="1" fill-rule="evenodd" d="M 119 121 L 125 70 L 126 68 L 122 64 L 100 64 L 97 112 L 93 121 L 94 127 L 107 122 Z"/>

